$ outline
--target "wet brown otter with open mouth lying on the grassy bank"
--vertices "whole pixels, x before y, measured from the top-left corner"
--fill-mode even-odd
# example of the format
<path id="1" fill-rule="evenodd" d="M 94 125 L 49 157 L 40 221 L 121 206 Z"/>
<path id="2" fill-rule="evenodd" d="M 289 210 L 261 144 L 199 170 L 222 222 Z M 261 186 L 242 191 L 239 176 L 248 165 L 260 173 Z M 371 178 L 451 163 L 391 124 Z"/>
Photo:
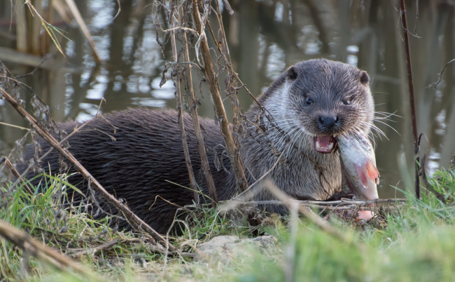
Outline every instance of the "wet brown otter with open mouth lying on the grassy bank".
<path id="1" fill-rule="evenodd" d="M 372 127 L 374 103 L 367 73 L 342 62 L 307 60 L 286 69 L 258 102 L 262 108 L 255 104 L 246 112 L 246 132 L 239 135 L 248 183 L 267 173 L 264 180 L 295 199 L 322 201 L 338 192 L 342 173 L 335 149 L 337 135 L 358 130 L 368 135 Z M 188 114 L 183 120 L 197 184 L 208 195 L 193 122 Z M 236 181 L 230 160 L 223 157 L 223 136 L 213 120 L 201 118 L 200 123 L 218 200 L 231 199 L 237 194 Z M 80 124 L 70 121 L 59 128 L 70 133 Z M 43 152 L 49 149 L 43 140 L 38 142 Z M 172 224 L 176 206 L 193 203 L 193 192 L 186 188 L 190 182 L 178 114 L 172 109 L 135 108 L 98 116 L 69 137 L 69 151 L 109 193 L 123 199 L 162 234 Z M 33 157 L 34 147 L 29 146 L 25 159 Z M 41 167 L 57 172 L 59 155 L 48 154 Z M 70 168 L 69 173 L 73 172 Z M 72 174 L 68 181 L 89 195 L 83 177 Z M 261 188 L 260 182 L 254 185 L 256 200 L 273 199 Z M 283 213 L 281 206 L 265 206 L 265 210 Z M 126 222 L 118 224 L 127 227 Z"/>

